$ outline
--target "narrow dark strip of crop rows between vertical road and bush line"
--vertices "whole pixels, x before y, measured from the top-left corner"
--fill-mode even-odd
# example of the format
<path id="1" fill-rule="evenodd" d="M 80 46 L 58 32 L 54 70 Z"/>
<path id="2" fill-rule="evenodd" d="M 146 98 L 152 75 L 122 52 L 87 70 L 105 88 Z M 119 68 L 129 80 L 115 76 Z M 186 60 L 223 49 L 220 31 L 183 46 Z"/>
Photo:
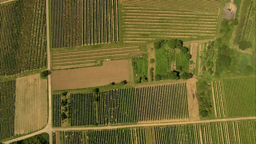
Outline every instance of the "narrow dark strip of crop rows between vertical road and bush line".
<path id="1" fill-rule="evenodd" d="M 58 127 L 60 126 L 60 94 L 52 95 L 52 126 Z"/>

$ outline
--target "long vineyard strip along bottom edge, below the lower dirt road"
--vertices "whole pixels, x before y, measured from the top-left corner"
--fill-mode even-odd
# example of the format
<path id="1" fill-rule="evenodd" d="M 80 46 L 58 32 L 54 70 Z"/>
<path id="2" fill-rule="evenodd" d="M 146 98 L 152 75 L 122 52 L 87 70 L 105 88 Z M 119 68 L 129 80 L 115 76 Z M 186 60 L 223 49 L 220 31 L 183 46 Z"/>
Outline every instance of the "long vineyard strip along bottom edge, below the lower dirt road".
<path id="1" fill-rule="evenodd" d="M 55 133 L 56 144 L 253 144 L 255 132 L 252 120 Z"/>

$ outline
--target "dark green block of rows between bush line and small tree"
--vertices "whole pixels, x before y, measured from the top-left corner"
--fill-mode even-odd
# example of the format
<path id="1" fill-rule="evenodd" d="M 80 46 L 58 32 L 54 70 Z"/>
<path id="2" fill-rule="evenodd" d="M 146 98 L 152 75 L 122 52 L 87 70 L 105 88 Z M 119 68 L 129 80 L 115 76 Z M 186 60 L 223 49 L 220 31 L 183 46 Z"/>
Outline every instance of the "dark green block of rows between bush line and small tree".
<path id="1" fill-rule="evenodd" d="M 96 124 L 96 104 L 93 98 L 93 93 L 70 95 L 71 126 Z"/>

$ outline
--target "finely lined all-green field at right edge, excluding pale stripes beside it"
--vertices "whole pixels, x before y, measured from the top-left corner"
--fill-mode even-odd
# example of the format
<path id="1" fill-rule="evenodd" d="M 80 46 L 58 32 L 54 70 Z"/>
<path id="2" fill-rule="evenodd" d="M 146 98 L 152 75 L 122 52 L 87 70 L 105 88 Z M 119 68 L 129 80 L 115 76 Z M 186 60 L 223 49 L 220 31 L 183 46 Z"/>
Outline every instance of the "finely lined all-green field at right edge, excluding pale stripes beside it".
<path id="1" fill-rule="evenodd" d="M 255 116 L 255 77 L 223 80 L 228 116 Z"/>

